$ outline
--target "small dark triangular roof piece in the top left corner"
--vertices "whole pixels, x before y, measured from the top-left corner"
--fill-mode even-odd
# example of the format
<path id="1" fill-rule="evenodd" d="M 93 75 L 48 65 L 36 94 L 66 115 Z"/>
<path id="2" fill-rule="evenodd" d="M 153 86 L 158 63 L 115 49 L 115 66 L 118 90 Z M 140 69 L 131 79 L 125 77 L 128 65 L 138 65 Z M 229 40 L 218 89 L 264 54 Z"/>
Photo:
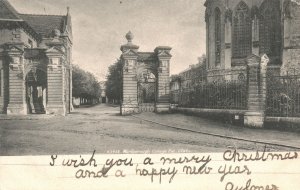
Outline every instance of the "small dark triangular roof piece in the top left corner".
<path id="1" fill-rule="evenodd" d="M 22 20 L 7 0 L 0 0 L 0 20 Z"/>

